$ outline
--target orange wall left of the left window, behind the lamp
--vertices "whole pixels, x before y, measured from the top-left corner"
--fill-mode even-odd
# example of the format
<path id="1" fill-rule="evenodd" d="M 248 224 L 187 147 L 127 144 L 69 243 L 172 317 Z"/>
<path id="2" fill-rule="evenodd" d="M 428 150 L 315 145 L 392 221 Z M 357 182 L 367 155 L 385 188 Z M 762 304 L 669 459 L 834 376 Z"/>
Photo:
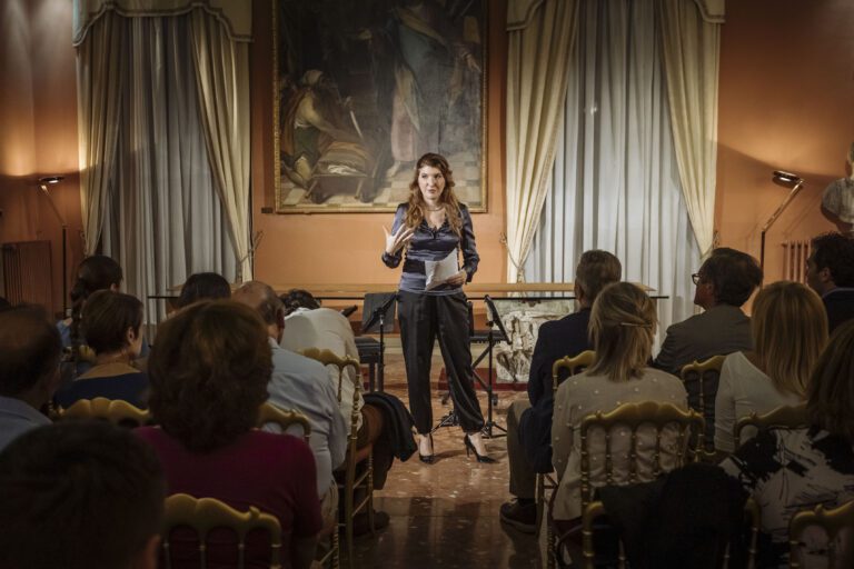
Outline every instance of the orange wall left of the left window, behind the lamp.
<path id="1" fill-rule="evenodd" d="M 82 257 L 70 1 L 0 2 L 0 242 L 51 241 L 56 311 L 62 306 L 61 226 L 36 181 L 66 177 L 50 191 L 69 224 L 70 276 Z"/>

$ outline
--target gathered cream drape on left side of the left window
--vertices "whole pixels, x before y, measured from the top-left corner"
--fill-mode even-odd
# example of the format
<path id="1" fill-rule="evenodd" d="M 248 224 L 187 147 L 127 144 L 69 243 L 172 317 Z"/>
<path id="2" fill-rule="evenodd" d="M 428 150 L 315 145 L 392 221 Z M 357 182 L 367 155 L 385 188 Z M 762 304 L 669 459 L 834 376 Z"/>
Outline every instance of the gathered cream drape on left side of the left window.
<path id="1" fill-rule="evenodd" d="M 121 98 L 119 17 L 106 14 L 77 52 L 78 151 L 85 253 L 95 254 L 116 163 Z"/>

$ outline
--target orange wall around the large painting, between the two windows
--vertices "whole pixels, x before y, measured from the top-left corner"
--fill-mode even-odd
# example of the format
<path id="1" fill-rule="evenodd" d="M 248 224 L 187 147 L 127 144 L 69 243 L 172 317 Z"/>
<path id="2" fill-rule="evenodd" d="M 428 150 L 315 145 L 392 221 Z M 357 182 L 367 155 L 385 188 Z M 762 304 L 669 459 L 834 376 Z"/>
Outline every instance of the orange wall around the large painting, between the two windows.
<path id="1" fill-rule="evenodd" d="M 488 44 L 488 212 L 474 213 L 480 282 L 503 282 L 506 257 L 498 234 L 504 231 L 504 86 L 506 83 L 506 0 L 490 1 Z M 272 207 L 272 64 L 269 52 L 272 8 L 269 0 L 254 3 L 252 27 L 252 224 L 264 231 L 255 258 L 255 277 L 284 283 L 396 283 L 399 270 L 380 261 L 381 226 L 390 213 L 275 214 Z M 453 167 L 453 164 L 451 164 Z"/>

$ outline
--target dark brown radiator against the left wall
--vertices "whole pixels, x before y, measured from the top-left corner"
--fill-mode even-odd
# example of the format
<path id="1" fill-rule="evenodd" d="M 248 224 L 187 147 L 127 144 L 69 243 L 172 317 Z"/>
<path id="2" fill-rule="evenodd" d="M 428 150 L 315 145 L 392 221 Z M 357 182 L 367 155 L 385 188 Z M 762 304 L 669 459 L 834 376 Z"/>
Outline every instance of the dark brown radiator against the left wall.
<path id="1" fill-rule="evenodd" d="M 3 243 L 3 287 L 12 305 L 41 305 L 52 313 L 50 241 Z"/>

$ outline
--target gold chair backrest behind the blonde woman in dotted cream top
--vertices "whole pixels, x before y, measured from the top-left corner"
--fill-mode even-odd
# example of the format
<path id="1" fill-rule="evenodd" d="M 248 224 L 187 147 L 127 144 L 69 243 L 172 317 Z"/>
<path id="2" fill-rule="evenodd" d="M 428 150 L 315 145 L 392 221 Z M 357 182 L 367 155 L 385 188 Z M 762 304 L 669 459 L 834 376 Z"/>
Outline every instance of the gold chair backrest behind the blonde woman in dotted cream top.
<path id="1" fill-rule="evenodd" d="M 627 429 L 628 433 L 615 431 L 615 428 L 620 427 Z M 638 439 L 638 433 L 644 427 L 647 430 L 652 428 L 654 431 L 655 442 L 652 449 L 648 448 L 648 442 L 644 445 L 644 441 Z M 703 432 L 703 417 L 694 410 L 683 411 L 672 403 L 644 401 L 623 403 L 613 411 L 597 411 L 582 419 L 579 433 L 582 511 L 593 501 L 594 453 L 590 442 L 592 436 L 597 431 L 604 437 L 604 456 L 599 455 L 598 450 L 596 456 L 604 458 L 598 466 L 604 470 L 605 483 L 634 483 L 655 479 L 662 472 L 693 460 L 696 457 L 697 446 L 696 438 L 692 437 L 692 433 Z M 619 453 L 623 453 L 622 460 Z M 619 471 L 615 468 L 615 458 L 617 462 L 622 462 L 620 467 L 627 468 L 627 472 L 622 468 Z M 666 459 L 666 463 L 663 459 Z M 646 471 L 646 462 L 652 462 L 651 471 Z M 619 473 L 619 480 L 615 473 Z"/>

